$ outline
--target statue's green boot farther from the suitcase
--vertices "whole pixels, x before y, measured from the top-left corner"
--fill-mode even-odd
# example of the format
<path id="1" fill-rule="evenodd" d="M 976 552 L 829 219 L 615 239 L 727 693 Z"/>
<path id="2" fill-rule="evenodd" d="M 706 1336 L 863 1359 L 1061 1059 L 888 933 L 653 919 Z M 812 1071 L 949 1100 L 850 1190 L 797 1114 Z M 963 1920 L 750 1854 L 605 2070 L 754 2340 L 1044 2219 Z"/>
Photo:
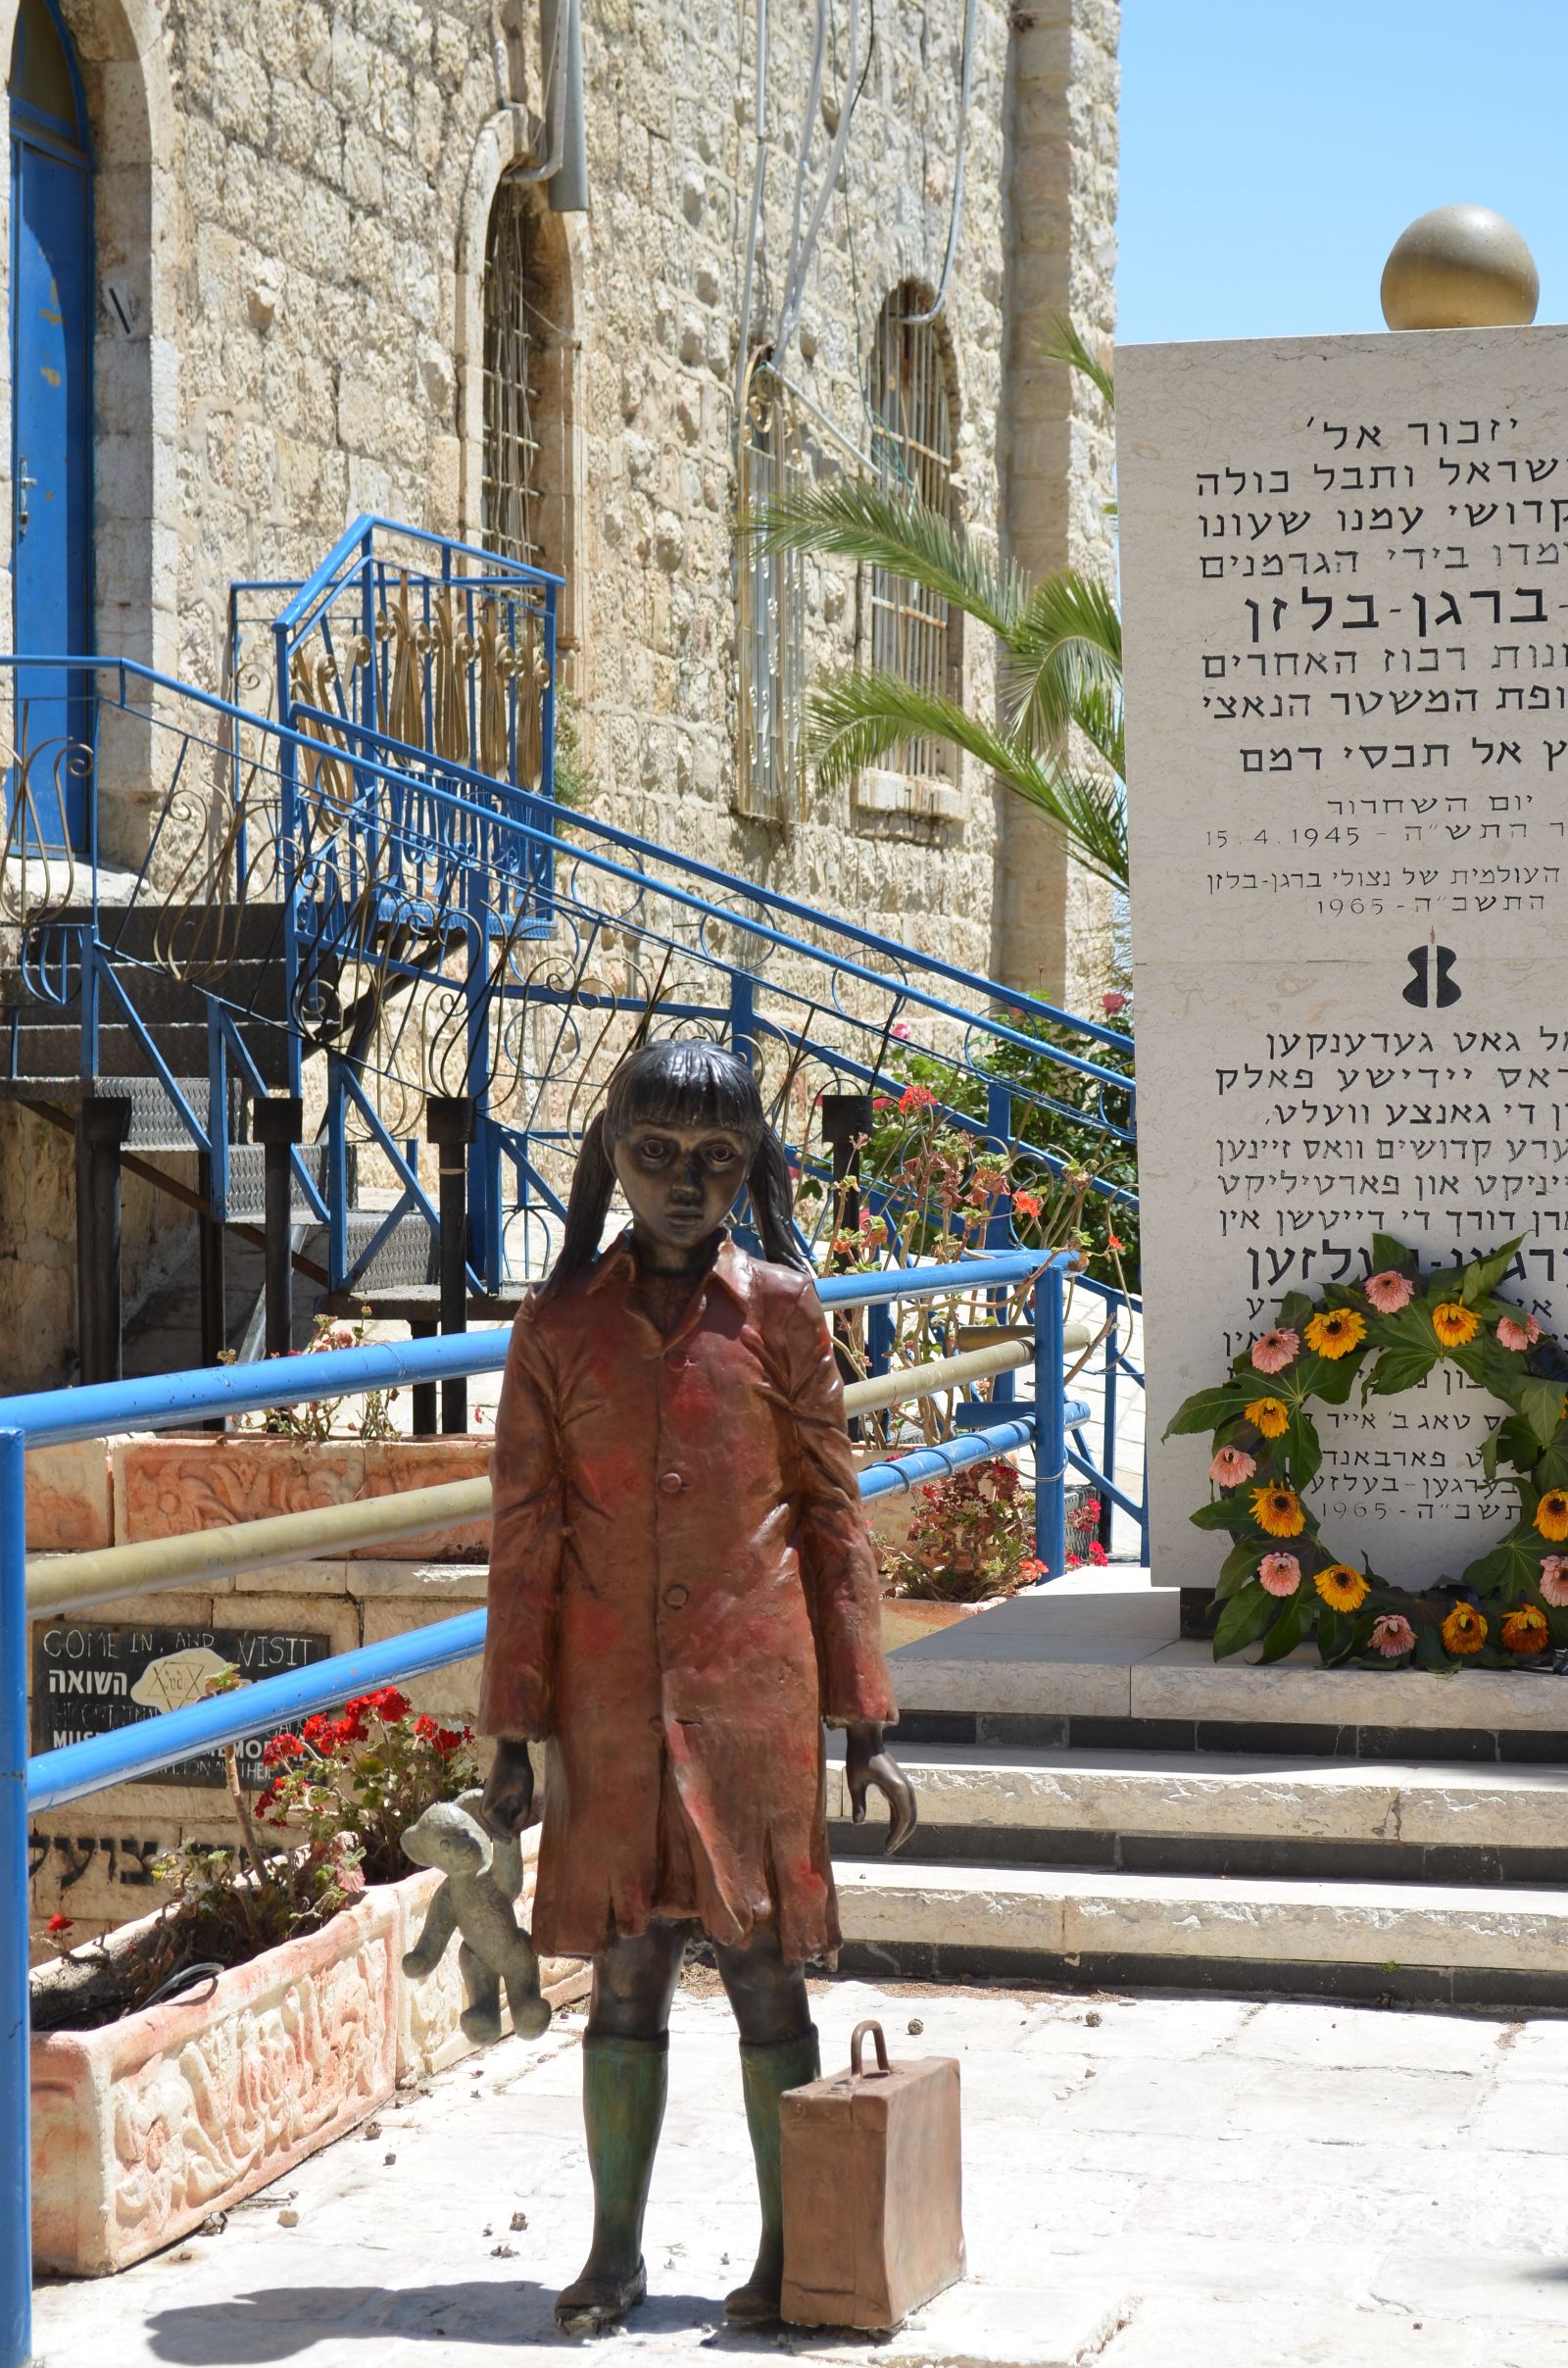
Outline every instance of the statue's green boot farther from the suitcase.
<path id="1" fill-rule="evenodd" d="M 649 2290 L 642 2214 L 670 2086 L 670 2039 L 583 2041 L 583 2124 L 595 2179 L 595 2242 L 576 2285 L 557 2295 L 561 2335 L 604 2335 Z"/>

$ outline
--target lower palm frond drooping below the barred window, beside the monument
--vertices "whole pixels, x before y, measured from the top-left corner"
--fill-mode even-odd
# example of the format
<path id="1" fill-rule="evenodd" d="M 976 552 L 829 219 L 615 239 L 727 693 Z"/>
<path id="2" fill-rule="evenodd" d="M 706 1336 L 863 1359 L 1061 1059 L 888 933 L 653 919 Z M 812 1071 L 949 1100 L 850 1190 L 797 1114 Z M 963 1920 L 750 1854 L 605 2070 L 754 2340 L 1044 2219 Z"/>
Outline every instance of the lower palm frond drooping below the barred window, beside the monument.
<path id="1" fill-rule="evenodd" d="M 1078 774 L 969 715 L 940 691 L 921 691 L 881 668 L 846 668 L 812 684 L 805 701 L 805 755 L 822 789 L 843 789 L 910 739 L 940 739 L 976 758 L 1061 831 L 1085 871 L 1111 888 L 1127 886 L 1120 781 Z"/>

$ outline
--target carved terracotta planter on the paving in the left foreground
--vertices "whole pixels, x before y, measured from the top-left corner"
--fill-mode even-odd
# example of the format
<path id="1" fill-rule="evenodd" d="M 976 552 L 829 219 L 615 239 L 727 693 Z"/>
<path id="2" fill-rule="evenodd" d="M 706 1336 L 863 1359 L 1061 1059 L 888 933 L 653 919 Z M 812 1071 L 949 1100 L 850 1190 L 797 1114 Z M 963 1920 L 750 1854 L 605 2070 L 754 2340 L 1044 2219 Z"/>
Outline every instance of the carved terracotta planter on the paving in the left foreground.
<path id="1" fill-rule="evenodd" d="M 36 2261 L 78 2278 L 128 2269 L 332 2145 L 398 2084 L 471 2053 L 457 1949 L 429 1982 L 400 1963 L 438 1883 L 422 1868 L 365 1892 L 220 1975 L 199 2006 L 33 2039 Z M 540 1973 L 554 2006 L 590 1977 L 573 1958 Z"/>

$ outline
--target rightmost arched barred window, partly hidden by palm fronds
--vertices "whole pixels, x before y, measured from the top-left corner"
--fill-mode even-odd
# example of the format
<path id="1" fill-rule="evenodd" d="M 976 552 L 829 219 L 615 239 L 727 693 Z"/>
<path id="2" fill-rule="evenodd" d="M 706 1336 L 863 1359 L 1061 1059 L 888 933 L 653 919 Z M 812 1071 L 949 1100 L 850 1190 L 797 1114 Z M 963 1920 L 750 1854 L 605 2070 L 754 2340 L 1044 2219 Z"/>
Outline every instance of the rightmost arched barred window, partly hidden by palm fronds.
<path id="1" fill-rule="evenodd" d="M 926 305 L 926 291 L 907 279 L 893 289 L 876 317 L 867 374 L 872 462 L 883 485 L 919 495 L 931 509 L 952 516 L 955 403 L 936 322 L 914 317 Z M 959 694 L 959 611 L 886 568 L 872 568 L 869 644 L 872 665 L 902 675 L 921 691 Z M 891 762 L 893 770 L 921 779 L 955 777 L 955 753 L 947 741 L 905 741 Z"/>

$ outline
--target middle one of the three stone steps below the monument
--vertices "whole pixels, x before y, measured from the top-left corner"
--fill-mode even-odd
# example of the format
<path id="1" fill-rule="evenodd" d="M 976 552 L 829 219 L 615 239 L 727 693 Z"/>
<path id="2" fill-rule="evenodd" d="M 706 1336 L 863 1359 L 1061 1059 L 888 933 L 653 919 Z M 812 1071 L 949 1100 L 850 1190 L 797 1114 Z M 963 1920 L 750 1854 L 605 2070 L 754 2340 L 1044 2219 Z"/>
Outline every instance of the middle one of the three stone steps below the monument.
<path id="1" fill-rule="evenodd" d="M 900 1864 L 1568 1887 L 1568 1767 L 891 1740 L 919 1795 Z M 881 1852 L 876 1807 L 848 1823 L 841 1764 L 827 1807 L 836 1857 Z"/>

